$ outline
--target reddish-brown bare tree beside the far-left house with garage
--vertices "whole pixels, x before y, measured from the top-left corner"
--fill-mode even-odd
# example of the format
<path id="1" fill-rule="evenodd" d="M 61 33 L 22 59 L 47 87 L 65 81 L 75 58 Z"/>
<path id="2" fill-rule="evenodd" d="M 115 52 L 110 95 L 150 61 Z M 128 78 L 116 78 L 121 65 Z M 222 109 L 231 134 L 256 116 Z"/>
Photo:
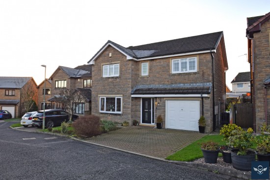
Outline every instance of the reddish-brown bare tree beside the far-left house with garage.
<path id="1" fill-rule="evenodd" d="M 20 82 L 19 82 L 20 83 Z M 26 112 L 29 112 L 33 107 L 36 106 L 37 88 L 36 84 L 30 79 L 21 89 L 21 98 L 24 103 Z"/>

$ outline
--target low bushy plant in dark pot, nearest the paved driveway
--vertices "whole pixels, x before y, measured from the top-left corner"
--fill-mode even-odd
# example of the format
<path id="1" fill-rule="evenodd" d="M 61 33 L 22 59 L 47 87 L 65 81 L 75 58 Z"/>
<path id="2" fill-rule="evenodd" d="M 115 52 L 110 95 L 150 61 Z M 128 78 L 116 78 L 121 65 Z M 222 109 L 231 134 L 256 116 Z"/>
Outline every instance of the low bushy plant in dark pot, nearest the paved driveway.
<path id="1" fill-rule="evenodd" d="M 201 144 L 201 150 L 203 153 L 205 163 L 215 164 L 219 153 L 218 143 L 213 141 L 203 142 Z"/>

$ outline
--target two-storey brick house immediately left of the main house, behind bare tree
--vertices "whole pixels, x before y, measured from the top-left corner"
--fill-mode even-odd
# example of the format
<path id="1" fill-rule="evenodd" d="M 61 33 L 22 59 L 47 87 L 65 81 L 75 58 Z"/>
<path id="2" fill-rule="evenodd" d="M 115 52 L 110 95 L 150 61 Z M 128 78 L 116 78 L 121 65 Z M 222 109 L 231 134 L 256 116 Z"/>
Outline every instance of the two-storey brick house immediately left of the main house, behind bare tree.
<path id="1" fill-rule="evenodd" d="M 86 71 L 88 70 L 88 71 Z M 59 94 L 63 89 L 77 89 L 83 96 L 83 101 L 76 103 L 75 114 L 91 114 L 91 65 L 82 65 L 76 68 L 59 66 L 49 78 L 52 81 L 51 108 L 65 109 L 59 101 Z"/>

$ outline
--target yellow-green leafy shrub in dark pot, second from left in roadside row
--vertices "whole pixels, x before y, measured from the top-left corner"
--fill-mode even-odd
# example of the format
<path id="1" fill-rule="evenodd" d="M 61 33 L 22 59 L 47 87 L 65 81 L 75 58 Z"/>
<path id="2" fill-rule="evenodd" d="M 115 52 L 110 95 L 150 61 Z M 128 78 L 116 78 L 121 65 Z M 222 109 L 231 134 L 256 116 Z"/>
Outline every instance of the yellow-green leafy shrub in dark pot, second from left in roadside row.
<path id="1" fill-rule="evenodd" d="M 223 140 L 226 141 L 226 143 L 228 144 L 228 138 L 232 136 L 232 131 L 241 130 L 241 129 L 242 128 L 240 128 L 236 124 L 228 124 L 228 125 L 224 125 L 220 129 L 219 134 L 223 135 Z M 231 148 L 229 146 L 222 146 L 220 148 L 220 151 L 222 153 L 223 162 L 232 163 Z"/>

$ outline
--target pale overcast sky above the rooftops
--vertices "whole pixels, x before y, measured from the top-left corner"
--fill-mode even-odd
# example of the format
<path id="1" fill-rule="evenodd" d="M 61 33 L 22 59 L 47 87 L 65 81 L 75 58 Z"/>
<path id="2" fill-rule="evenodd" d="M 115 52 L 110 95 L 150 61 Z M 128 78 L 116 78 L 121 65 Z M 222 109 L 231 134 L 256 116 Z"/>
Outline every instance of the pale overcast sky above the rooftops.
<path id="1" fill-rule="evenodd" d="M 0 0 L 0 76 L 33 77 L 75 68 L 111 40 L 137 46 L 224 32 L 226 83 L 247 63 L 246 18 L 270 12 L 270 0 Z"/>

